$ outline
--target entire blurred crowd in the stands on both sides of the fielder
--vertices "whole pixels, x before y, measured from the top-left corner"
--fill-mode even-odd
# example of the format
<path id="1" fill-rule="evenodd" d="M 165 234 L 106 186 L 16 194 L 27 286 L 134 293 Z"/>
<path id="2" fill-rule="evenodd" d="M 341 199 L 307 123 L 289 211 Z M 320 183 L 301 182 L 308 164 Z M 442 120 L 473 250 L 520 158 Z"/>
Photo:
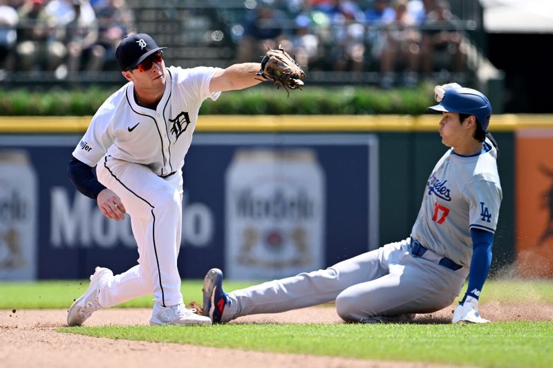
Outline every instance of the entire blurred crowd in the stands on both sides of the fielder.
<path id="1" fill-rule="evenodd" d="M 245 0 L 242 23 L 228 32 L 234 33 L 237 62 L 259 60 L 281 44 L 307 70 L 373 70 L 380 72 L 382 88 L 413 86 L 437 70 L 465 71 L 462 32 L 449 5 Z M 0 0 L 0 79 L 10 71 L 46 70 L 63 77 L 117 70 L 118 42 L 137 31 L 125 0 Z"/>

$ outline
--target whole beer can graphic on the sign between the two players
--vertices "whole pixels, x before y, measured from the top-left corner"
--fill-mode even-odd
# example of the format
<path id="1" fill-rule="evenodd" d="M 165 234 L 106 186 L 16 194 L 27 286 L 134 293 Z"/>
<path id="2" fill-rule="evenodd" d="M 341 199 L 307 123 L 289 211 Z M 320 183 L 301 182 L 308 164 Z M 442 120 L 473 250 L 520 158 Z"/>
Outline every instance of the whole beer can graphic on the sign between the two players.
<path id="1" fill-rule="evenodd" d="M 314 151 L 238 150 L 225 180 L 229 278 L 283 278 L 324 266 L 325 180 Z"/>

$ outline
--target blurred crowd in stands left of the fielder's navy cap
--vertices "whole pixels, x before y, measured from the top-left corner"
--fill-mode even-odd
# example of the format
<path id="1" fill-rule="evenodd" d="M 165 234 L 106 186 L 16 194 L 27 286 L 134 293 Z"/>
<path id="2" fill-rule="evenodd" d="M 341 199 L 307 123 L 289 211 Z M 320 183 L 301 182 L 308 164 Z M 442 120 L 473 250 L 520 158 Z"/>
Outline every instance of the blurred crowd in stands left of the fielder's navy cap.
<path id="1" fill-rule="evenodd" d="M 63 77 L 114 68 L 129 32 L 125 0 L 0 0 L 0 69 Z"/>

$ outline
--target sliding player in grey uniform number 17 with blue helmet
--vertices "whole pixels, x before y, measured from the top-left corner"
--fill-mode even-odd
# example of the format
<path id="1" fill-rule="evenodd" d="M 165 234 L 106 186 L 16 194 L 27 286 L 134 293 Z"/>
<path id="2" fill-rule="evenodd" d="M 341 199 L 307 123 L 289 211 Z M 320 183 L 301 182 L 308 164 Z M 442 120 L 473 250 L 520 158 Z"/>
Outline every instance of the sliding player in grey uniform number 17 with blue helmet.
<path id="1" fill-rule="evenodd" d="M 469 275 L 453 322 L 489 322 L 478 297 L 491 264 L 502 191 L 498 149 L 487 133 L 491 104 L 457 84 L 437 86 L 439 132 L 450 149 L 435 165 L 411 236 L 328 269 L 225 293 L 223 273 L 211 269 L 203 310 L 214 323 L 254 313 L 277 313 L 335 301 L 350 322 L 406 322 L 414 313 L 447 307 Z M 469 272 L 470 271 L 470 272 Z"/>

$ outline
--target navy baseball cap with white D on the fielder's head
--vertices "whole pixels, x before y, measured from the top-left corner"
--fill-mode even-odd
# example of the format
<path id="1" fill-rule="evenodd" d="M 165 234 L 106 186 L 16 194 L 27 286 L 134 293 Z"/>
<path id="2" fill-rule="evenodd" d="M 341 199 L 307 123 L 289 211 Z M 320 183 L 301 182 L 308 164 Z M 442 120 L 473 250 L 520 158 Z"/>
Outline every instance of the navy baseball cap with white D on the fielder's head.
<path id="1" fill-rule="evenodd" d="M 146 33 L 126 36 L 115 50 L 115 58 L 121 70 L 135 68 L 154 52 L 163 50 Z"/>

